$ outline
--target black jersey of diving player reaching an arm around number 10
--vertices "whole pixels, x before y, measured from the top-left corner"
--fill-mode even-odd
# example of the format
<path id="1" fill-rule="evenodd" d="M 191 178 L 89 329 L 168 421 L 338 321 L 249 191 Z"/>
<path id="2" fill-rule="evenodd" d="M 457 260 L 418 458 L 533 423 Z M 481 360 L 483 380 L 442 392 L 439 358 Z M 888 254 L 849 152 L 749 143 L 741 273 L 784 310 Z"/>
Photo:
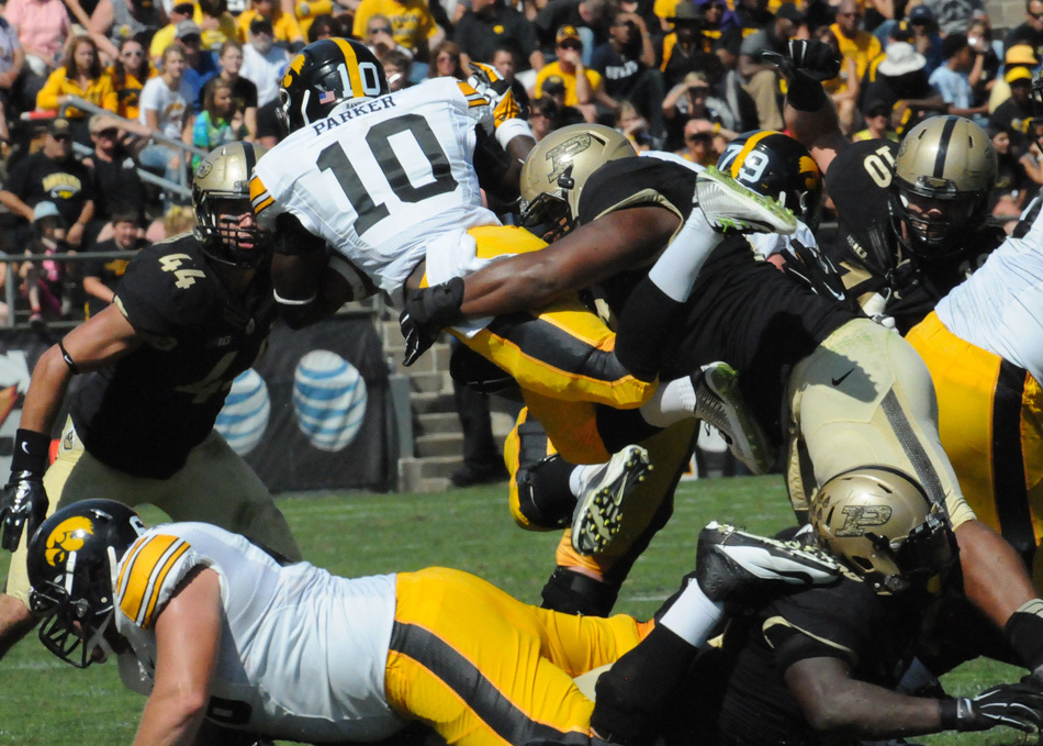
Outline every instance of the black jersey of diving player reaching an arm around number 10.
<path id="1" fill-rule="evenodd" d="M 630 207 L 659 205 L 687 218 L 695 171 L 659 158 L 623 158 L 598 169 L 580 200 L 580 222 Z M 617 313 L 648 268 L 605 283 Z M 662 380 L 724 360 L 739 371 L 750 408 L 776 441 L 789 368 L 854 315 L 758 259 L 742 236 L 725 240 L 699 271 L 683 323 L 669 341 Z"/>

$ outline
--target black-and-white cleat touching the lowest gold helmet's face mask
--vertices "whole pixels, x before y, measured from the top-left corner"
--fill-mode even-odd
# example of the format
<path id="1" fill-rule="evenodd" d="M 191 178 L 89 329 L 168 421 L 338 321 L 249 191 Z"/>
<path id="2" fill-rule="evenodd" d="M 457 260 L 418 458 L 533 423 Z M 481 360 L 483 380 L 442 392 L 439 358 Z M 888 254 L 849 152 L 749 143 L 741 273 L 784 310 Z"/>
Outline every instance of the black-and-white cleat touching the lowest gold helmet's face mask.
<path id="1" fill-rule="evenodd" d="M 695 579 L 710 601 L 747 603 L 784 586 L 825 584 L 840 577 L 828 553 L 711 521 L 699 533 Z"/>

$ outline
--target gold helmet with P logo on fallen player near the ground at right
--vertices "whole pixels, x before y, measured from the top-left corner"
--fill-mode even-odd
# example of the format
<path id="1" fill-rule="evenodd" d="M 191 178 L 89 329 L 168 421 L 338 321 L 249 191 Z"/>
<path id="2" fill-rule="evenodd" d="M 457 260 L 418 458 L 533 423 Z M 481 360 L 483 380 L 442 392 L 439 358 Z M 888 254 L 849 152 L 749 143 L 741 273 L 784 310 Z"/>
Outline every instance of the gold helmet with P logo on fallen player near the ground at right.
<path id="1" fill-rule="evenodd" d="M 833 477 L 811 501 L 821 543 L 883 595 L 937 593 L 956 564 L 956 539 L 942 505 L 907 475 L 866 466 Z"/>

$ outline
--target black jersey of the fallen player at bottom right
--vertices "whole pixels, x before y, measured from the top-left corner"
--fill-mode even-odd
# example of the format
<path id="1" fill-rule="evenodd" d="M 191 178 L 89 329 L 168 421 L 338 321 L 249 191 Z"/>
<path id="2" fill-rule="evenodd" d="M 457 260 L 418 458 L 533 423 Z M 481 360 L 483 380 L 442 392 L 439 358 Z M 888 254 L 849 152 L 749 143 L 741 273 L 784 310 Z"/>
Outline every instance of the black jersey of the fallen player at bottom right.
<path id="1" fill-rule="evenodd" d="M 920 639 L 924 609 L 882 598 L 861 580 L 843 578 L 776 599 L 737 621 L 725 638 L 719 744 L 819 744 L 784 675 L 808 658 L 844 660 L 852 677 L 888 689 L 897 686 Z"/>

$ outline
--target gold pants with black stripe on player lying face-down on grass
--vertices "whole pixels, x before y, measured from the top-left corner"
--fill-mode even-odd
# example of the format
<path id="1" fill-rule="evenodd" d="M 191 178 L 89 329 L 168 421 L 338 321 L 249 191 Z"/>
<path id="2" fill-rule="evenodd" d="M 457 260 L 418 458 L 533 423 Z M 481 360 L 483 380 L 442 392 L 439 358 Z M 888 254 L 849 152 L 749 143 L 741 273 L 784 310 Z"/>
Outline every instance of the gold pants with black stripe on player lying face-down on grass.
<path id="1" fill-rule="evenodd" d="M 594 703 L 573 678 L 651 631 L 630 616 L 559 614 L 446 568 L 397 576 L 385 689 L 450 746 L 590 744 Z"/>

